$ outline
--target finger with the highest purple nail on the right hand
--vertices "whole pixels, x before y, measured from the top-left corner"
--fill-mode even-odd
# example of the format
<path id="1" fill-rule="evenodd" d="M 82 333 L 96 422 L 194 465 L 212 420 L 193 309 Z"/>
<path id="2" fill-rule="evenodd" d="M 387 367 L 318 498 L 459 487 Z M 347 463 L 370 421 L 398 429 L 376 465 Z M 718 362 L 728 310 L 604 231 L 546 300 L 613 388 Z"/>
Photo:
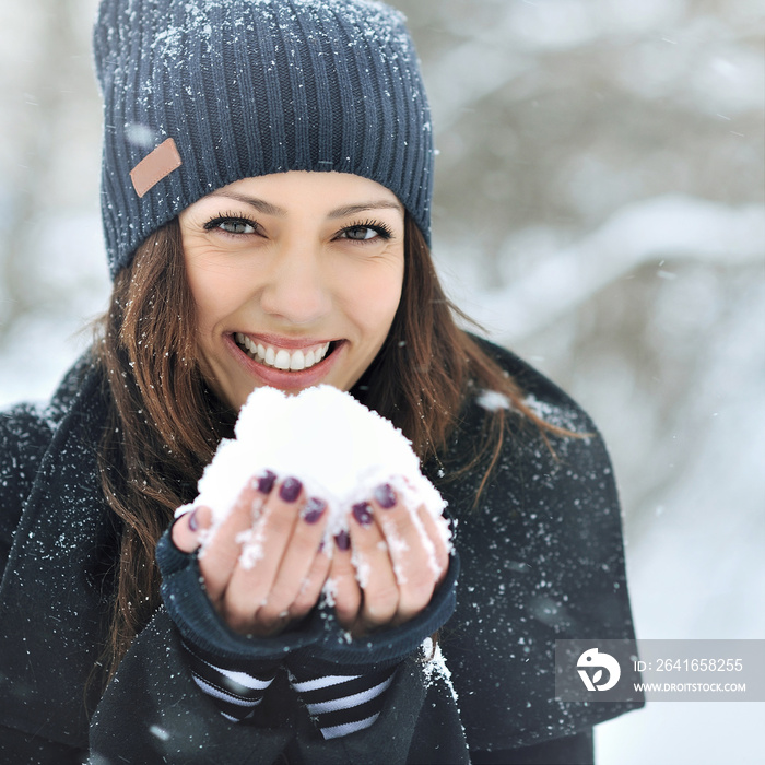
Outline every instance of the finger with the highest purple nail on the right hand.
<path id="1" fill-rule="evenodd" d="M 433 597 L 436 574 L 431 565 L 434 544 L 416 514 L 400 501 L 389 484 L 374 492 L 375 517 L 382 529 L 399 587 L 396 623 L 422 611 Z"/>

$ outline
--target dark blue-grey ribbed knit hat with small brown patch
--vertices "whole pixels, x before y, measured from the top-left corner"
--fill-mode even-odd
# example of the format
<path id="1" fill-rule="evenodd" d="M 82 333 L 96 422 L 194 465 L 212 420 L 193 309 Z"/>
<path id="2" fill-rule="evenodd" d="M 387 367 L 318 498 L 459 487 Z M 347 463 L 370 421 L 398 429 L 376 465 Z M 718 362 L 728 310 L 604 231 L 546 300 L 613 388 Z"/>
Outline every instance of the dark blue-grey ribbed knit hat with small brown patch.
<path id="1" fill-rule="evenodd" d="M 431 116 L 398 11 L 370 0 L 103 0 L 93 43 L 113 276 L 201 197 L 286 170 L 376 180 L 429 240 Z"/>

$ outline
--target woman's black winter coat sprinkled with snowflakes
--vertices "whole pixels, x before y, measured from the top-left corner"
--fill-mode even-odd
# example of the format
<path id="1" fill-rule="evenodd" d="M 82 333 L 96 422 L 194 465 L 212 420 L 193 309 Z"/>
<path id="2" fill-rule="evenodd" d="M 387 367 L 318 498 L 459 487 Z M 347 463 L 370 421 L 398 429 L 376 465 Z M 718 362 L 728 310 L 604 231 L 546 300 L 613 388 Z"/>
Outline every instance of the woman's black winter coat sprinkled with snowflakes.
<path id="1" fill-rule="evenodd" d="M 553 455 L 510 415 L 473 507 L 483 471 L 450 480 L 483 438 L 481 391 L 467 402 L 449 448 L 426 466 L 461 557 L 457 610 L 440 635 L 451 681 L 408 659 L 378 720 L 331 741 L 284 674 L 260 727 L 224 719 L 193 684 L 164 609 L 103 697 L 86 698 L 104 642 L 111 523 L 95 461 L 99 375 L 81 361 L 47 408 L 0 415 L 0 762 L 76 763 L 87 752 L 98 765 L 591 762 L 592 726 L 640 705 L 556 702 L 553 651 L 555 639 L 634 637 L 611 464 L 565 393 L 510 353 L 486 350 L 548 422 L 590 435 L 552 438 Z"/>

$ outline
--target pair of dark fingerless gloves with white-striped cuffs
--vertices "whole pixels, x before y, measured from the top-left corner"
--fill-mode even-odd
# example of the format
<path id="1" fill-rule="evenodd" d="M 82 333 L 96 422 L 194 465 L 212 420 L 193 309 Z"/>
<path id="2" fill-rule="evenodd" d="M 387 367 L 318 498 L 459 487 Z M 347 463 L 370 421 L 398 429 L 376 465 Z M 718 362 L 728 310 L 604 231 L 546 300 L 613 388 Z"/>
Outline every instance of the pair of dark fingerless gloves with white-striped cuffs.
<path id="1" fill-rule="evenodd" d="M 372 726 L 397 667 L 451 616 L 459 558 L 431 602 L 405 624 L 352 638 L 325 603 L 275 637 L 232 632 L 204 592 L 197 553 L 179 551 L 168 529 L 156 561 L 162 598 L 178 627 L 195 682 L 232 721 L 252 716 L 279 666 L 286 660 L 293 688 L 325 739 Z"/>

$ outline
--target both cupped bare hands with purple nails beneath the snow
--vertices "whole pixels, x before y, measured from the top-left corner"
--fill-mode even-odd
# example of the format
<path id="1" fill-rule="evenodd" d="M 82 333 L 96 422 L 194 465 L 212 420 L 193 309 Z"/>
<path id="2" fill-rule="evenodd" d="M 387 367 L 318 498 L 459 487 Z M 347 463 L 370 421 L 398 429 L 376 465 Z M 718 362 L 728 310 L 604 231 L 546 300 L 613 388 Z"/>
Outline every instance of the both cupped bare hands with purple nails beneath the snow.
<path id="1" fill-rule="evenodd" d="M 327 539 L 327 504 L 295 478 L 267 471 L 245 486 L 213 528 L 199 506 L 176 520 L 181 552 L 199 549 L 204 588 L 236 633 L 260 637 L 303 619 L 326 588 L 338 621 L 354 637 L 403 624 L 431 601 L 449 552 L 443 518 L 410 510 L 389 484 L 353 506 L 349 531 Z"/>

